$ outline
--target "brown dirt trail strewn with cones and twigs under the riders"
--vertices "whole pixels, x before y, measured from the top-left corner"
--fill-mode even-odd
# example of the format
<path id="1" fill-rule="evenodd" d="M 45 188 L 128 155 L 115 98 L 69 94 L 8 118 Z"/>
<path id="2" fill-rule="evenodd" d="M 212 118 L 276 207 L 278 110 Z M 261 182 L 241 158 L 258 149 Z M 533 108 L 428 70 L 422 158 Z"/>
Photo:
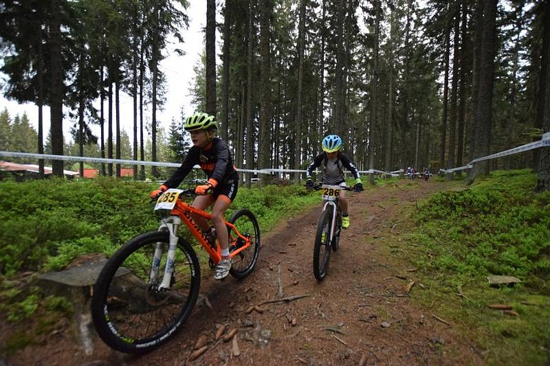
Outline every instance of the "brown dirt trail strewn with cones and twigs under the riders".
<path id="1" fill-rule="evenodd" d="M 431 181 L 399 181 L 388 189 L 349 194 L 351 227 L 342 232 L 340 249 L 332 253 L 329 273 L 321 283 L 312 273 L 320 208 L 289 220 L 263 238 L 260 260 L 248 278 L 228 277 L 221 283 L 205 278 L 184 329 L 159 350 L 129 356 L 101 345 L 92 358 L 77 358 L 73 351 L 67 355 L 72 361 L 65 364 L 86 360 L 100 361 L 96 365 L 358 365 L 362 358 L 365 364 L 380 365 L 483 363 L 456 327 L 434 319 L 430 309 L 412 306 L 406 293 L 408 279 L 396 277 L 410 275 L 407 264 L 388 261 L 378 244 L 382 236 L 400 240 L 401 211 L 444 187 L 445 183 Z M 275 299 L 279 282 L 284 297 L 309 296 L 265 304 L 263 313 L 245 313 L 252 305 Z M 421 289 L 415 287 L 412 293 L 417 290 Z M 239 356 L 233 355 L 232 341 L 214 341 L 221 324 L 238 329 Z M 267 345 L 256 341 L 260 330 L 271 333 Z M 210 348 L 189 361 L 199 336 L 206 336 Z"/>

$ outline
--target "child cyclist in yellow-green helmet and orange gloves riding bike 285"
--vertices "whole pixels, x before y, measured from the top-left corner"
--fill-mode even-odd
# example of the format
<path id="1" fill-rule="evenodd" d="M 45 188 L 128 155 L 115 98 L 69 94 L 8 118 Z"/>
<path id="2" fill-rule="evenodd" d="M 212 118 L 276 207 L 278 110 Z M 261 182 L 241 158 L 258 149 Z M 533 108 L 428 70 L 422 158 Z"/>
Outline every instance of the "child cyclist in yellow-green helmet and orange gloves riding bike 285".
<path id="1" fill-rule="evenodd" d="M 196 164 L 201 166 L 203 172 L 208 176 L 208 182 L 195 188 L 195 193 L 199 196 L 195 197 L 192 206 L 203 210 L 214 205 L 212 207 L 212 223 L 215 231 L 212 227 L 208 227 L 208 221 L 205 218 L 193 215 L 193 220 L 206 233 L 208 240 L 213 242 L 217 234 L 221 247 L 221 260 L 216 266 L 214 278 L 223 279 L 227 277 L 231 269 L 228 230 L 223 224 L 223 217 L 225 210 L 235 199 L 239 187 L 239 176 L 234 169 L 227 144 L 219 137 L 215 137 L 218 125 L 212 115 L 195 113 L 187 117 L 184 128 L 191 134 L 193 146 L 189 149 L 181 166 L 158 190 L 151 192 L 151 197 L 156 197 L 168 188 L 177 187 L 193 166 Z"/>

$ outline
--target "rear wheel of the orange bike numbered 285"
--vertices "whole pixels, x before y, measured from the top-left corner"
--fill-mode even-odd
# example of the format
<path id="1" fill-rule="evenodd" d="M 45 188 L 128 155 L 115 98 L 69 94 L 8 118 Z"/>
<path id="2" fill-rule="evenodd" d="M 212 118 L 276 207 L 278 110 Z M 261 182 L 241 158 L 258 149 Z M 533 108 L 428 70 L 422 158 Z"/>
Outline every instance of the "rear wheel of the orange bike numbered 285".
<path id="1" fill-rule="evenodd" d="M 242 236 L 250 239 L 250 247 L 233 256 L 231 270 L 229 271 L 233 277 L 241 279 L 252 272 L 258 260 L 260 253 L 260 227 L 256 216 L 248 209 L 239 209 L 239 211 L 236 211 L 229 219 L 229 222 L 235 226 Z M 228 231 L 230 252 L 236 251 L 245 245 L 245 241 L 236 236 L 236 233 L 232 229 L 228 229 Z"/>

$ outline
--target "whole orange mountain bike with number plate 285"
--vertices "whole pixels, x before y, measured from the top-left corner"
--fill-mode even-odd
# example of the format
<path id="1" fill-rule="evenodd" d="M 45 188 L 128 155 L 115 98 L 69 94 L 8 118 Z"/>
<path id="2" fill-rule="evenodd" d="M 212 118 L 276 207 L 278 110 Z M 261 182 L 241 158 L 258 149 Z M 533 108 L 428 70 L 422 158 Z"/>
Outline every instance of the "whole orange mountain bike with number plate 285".
<path id="1" fill-rule="evenodd" d="M 91 315 L 101 339 L 121 352 L 148 352 L 168 341 L 195 306 L 201 271 L 190 243 L 178 236 L 181 225 L 210 255 L 210 267 L 221 260 L 219 241 L 211 243 L 191 214 L 211 215 L 181 201 L 193 190 L 166 190 L 155 211 L 161 216 L 158 231 L 126 242 L 103 267 L 91 299 Z M 260 229 L 248 209 L 239 209 L 225 221 L 228 228 L 231 275 L 246 277 L 258 260 Z"/>

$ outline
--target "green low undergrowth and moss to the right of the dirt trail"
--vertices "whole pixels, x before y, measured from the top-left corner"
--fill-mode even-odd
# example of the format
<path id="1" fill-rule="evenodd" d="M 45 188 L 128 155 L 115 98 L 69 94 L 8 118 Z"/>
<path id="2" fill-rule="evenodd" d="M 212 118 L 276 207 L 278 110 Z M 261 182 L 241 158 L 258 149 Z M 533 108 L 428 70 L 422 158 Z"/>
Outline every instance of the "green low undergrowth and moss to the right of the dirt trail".
<path id="1" fill-rule="evenodd" d="M 532 194 L 535 183 L 529 170 L 493 172 L 467 190 L 434 194 L 406 236 L 418 246 L 407 260 L 426 285 L 412 299 L 459 324 L 489 364 L 550 362 L 550 192 Z M 522 284 L 490 288 L 491 274 Z"/>

